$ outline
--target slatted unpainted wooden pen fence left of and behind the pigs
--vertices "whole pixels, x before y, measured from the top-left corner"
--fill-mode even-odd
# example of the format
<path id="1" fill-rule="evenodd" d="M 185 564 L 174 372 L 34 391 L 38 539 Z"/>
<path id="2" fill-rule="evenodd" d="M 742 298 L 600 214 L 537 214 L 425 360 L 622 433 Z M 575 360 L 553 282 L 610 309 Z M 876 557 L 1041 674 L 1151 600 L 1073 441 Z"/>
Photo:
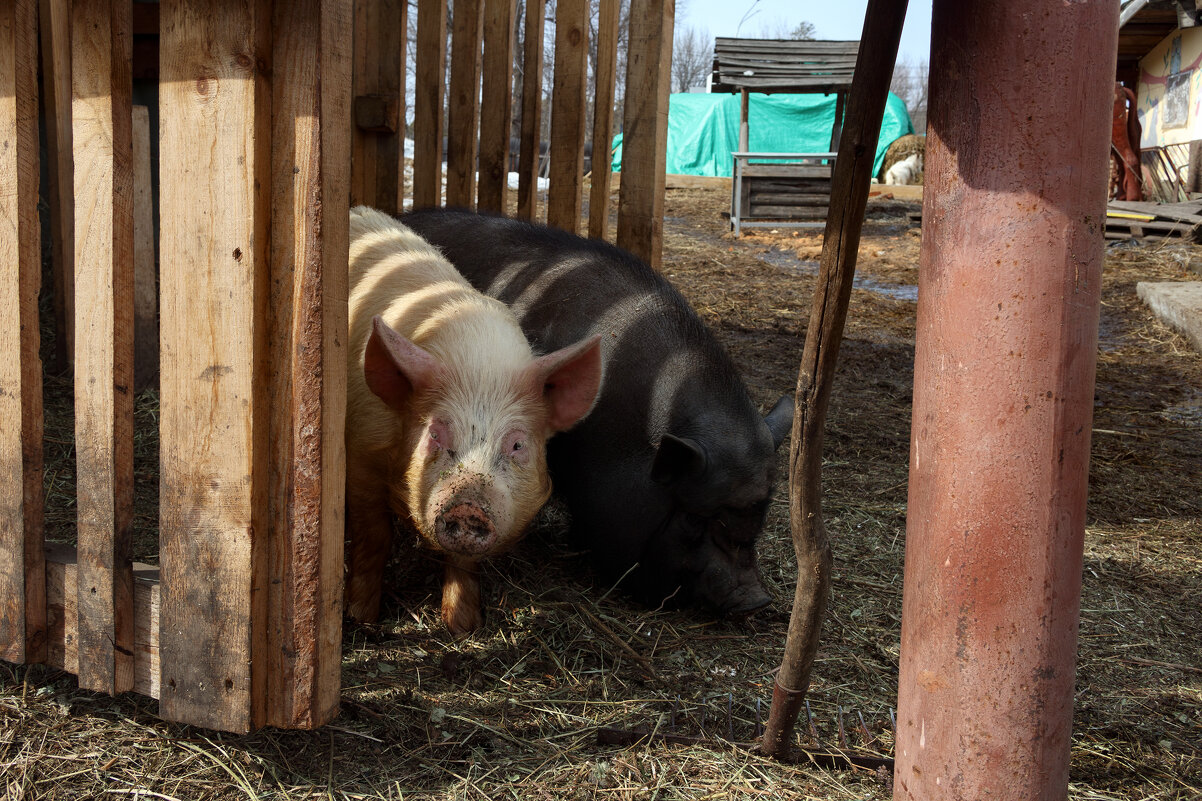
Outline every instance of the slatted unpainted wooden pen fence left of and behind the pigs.
<path id="1" fill-rule="evenodd" d="M 606 49 L 617 38 L 617 1 L 602 4 Z M 631 67 L 629 94 L 643 105 L 626 109 L 627 130 L 642 131 L 627 158 L 654 165 L 666 140 L 661 57 L 672 4 L 635 5 L 631 60 L 664 66 Z M 478 153 L 480 206 L 502 209 L 498 154 L 507 154 L 512 99 L 505 82 L 488 84 L 478 113 L 470 99 L 481 58 L 489 82 L 512 72 L 496 65 L 512 59 L 516 0 L 463 6 L 451 71 L 468 108 L 452 103 L 463 125 L 452 131 L 448 191 L 472 201 Z M 530 6 L 526 30 L 541 31 L 542 4 Z M 0 141 L 10 143 L 0 148 L 0 659 L 44 661 L 77 674 L 84 688 L 156 698 L 171 720 L 230 731 L 319 726 L 337 713 L 341 668 L 347 210 L 351 202 L 400 210 L 406 189 L 418 206 L 441 198 L 445 5 L 418 6 L 418 47 L 433 58 L 417 59 L 411 188 L 404 0 L 162 0 L 149 8 L 0 4 Z M 560 4 L 561 25 L 570 11 Z M 587 35 L 587 19 L 573 19 Z M 155 30 L 157 48 L 131 44 L 133 32 Z M 569 38 L 570 60 L 583 65 L 585 44 Z M 157 55 L 135 66 L 138 52 Z M 557 53 L 557 64 L 560 55 L 569 58 Z M 601 71 L 607 103 L 613 63 Z M 135 73 L 160 81 L 157 297 L 150 292 L 161 308 L 157 568 L 130 558 L 135 298 L 145 296 L 136 285 L 147 286 L 139 243 L 153 248 L 149 120 L 132 106 Z M 567 132 L 552 148 L 560 172 L 548 216 L 573 230 L 584 73 L 579 66 L 576 78 L 557 79 L 553 96 L 555 114 L 577 121 L 557 127 Z M 76 334 L 75 547 L 47 547 L 42 524 L 40 97 L 50 134 L 55 296 L 67 316 L 59 342 Z M 524 155 L 538 113 L 526 97 Z M 612 119 L 608 109 L 599 117 Z M 519 197 L 534 215 L 535 174 L 523 164 Z M 618 233 L 653 262 L 659 173 L 624 182 Z M 607 207 L 594 202 L 593 213 Z"/>

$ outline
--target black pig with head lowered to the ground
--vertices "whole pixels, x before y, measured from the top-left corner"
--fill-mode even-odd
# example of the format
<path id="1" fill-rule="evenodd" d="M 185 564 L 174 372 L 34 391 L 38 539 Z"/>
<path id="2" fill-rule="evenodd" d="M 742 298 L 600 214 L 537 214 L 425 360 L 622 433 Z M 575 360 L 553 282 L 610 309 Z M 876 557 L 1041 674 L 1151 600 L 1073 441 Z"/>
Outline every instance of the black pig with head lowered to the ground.
<path id="1" fill-rule="evenodd" d="M 472 212 L 401 219 L 508 304 L 536 349 L 602 334 L 596 405 L 547 449 L 573 539 L 602 576 L 625 576 L 623 586 L 650 605 L 740 615 L 768 604 L 755 540 L 792 399 L 761 417 L 689 303 L 624 250 Z"/>

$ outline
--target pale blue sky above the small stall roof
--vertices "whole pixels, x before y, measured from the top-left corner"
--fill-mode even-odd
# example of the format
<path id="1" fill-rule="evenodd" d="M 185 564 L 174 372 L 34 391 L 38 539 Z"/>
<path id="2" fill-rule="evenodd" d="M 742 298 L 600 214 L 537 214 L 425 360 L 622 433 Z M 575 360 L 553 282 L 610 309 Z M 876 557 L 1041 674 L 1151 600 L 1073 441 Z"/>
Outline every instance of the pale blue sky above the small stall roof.
<path id="1" fill-rule="evenodd" d="M 697 28 L 714 36 L 760 36 L 813 23 L 817 38 L 859 38 L 868 0 L 677 0 L 677 28 Z M 742 26 L 740 26 L 742 23 Z M 899 55 L 928 59 L 930 0 L 910 0 Z"/>

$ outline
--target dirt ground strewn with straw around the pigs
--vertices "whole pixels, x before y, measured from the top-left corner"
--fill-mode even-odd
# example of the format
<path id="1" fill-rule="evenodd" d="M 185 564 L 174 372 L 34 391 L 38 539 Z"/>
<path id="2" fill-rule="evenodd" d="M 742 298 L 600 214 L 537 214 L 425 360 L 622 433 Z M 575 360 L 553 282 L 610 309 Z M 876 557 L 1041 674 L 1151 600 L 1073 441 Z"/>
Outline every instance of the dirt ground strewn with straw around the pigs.
<path id="1" fill-rule="evenodd" d="M 792 391 L 817 232 L 733 239 L 716 188 L 672 189 L 664 271 L 764 408 Z M 914 361 L 916 202 L 875 198 L 826 434 L 831 606 L 798 742 L 891 755 Z M 1107 250 L 1069 796 L 1202 797 L 1202 355 L 1156 322 L 1137 280 L 1195 278 L 1195 245 Z M 47 378 L 47 394 L 64 385 Z M 61 387 L 60 387 L 61 388 Z M 153 439 L 156 399 L 139 400 Z M 48 511 L 71 526 L 69 409 L 48 411 Z M 58 428 L 55 427 L 58 426 Z M 66 433 L 64 433 L 66 432 Z M 785 453 L 780 468 L 785 475 Z M 55 456 L 58 453 L 58 456 Z M 153 534 L 153 443 L 138 468 Z M 58 461 L 55 461 L 58 459 Z M 347 625 L 343 712 L 317 731 L 231 736 L 155 718 L 144 698 L 81 692 L 0 663 L 6 799 L 889 799 L 871 770 L 781 765 L 755 738 L 780 663 L 795 560 L 776 489 L 750 621 L 648 610 L 596 583 L 554 508 L 486 572 L 486 627 L 457 641 L 436 576 L 400 554 L 383 622 Z M 145 541 L 145 536 L 141 541 Z M 153 541 L 153 538 L 151 538 Z M 149 556 L 149 554 L 139 554 Z M 982 688 L 987 692 L 987 688 Z M 599 726 L 702 737 L 600 744 Z"/>

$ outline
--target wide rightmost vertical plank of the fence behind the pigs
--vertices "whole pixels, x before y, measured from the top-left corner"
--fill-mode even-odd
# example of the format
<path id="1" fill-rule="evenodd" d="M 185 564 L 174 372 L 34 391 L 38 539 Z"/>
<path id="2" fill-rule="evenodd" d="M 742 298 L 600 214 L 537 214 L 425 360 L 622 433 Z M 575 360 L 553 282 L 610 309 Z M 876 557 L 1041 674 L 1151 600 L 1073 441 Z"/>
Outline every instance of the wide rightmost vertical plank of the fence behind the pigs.
<path id="1" fill-rule="evenodd" d="M 659 269 L 664 251 L 673 0 L 631 0 L 618 247 Z"/>

